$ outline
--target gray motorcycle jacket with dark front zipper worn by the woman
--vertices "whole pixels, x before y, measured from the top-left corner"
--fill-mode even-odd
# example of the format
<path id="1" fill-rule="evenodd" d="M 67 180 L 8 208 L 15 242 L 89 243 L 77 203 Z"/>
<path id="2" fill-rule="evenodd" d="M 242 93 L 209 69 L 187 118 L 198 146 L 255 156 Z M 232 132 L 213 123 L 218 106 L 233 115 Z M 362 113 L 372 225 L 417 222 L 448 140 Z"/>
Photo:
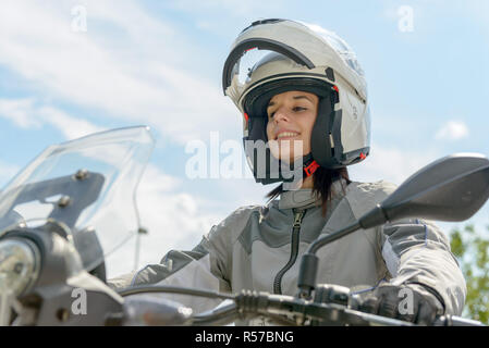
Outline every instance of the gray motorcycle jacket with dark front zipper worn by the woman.
<path id="1" fill-rule="evenodd" d="M 266 206 L 242 207 L 215 225 L 192 251 L 168 252 L 159 264 L 109 281 L 114 288 L 175 285 L 239 293 L 296 295 L 301 257 L 320 235 L 351 225 L 395 186 L 386 182 L 334 182 L 326 216 L 310 189 L 285 191 Z M 294 221 L 299 227 L 293 228 Z M 429 221 L 409 219 L 360 229 L 318 250 L 318 283 L 356 293 L 382 283 L 420 284 L 435 294 L 440 313 L 460 315 L 465 279 L 447 236 Z M 219 302 L 169 296 L 194 311 Z"/>

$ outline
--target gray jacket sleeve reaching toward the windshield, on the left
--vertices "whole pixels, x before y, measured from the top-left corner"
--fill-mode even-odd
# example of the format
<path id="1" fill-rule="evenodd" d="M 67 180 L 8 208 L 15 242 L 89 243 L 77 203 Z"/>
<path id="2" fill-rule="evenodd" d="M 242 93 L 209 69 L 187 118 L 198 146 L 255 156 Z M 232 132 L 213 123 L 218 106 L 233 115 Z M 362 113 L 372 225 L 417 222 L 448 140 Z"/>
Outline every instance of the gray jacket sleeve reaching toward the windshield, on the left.
<path id="1" fill-rule="evenodd" d="M 230 291 L 230 236 L 222 222 L 215 225 L 200 243 L 190 251 L 171 250 L 157 264 L 148 264 L 138 272 L 129 273 L 108 281 L 113 289 L 131 286 L 183 286 L 207 290 Z M 195 312 L 209 310 L 221 300 L 185 295 L 163 296 Z"/>

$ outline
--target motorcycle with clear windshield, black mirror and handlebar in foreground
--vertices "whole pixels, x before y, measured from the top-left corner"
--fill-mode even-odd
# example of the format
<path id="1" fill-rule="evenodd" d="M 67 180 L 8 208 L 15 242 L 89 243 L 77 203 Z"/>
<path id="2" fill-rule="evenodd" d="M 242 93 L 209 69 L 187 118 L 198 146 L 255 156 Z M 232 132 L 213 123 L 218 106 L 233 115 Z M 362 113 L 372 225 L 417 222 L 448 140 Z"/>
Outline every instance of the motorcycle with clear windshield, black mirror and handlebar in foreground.
<path id="1" fill-rule="evenodd" d="M 175 286 L 113 290 L 105 260 L 140 231 L 135 194 L 154 148 L 146 126 L 97 133 L 48 147 L 0 192 L 0 325 L 227 325 L 267 318 L 280 325 L 399 325 L 358 310 L 349 288 L 316 283 L 322 246 L 402 217 L 464 221 L 489 197 L 489 160 L 453 154 L 412 175 L 355 224 L 319 237 L 303 256 L 297 295 L 223 294 Z M 223 300 L 193 313 L 151 296 Z M 432 325 L 480 326 L 442 315 Z"/>

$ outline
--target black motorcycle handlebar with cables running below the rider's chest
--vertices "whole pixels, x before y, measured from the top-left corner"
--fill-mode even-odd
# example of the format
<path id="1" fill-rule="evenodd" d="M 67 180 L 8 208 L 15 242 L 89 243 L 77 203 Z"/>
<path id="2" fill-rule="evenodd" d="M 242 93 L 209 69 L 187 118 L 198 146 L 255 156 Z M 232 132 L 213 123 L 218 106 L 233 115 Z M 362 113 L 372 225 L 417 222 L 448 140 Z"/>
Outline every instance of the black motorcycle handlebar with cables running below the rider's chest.
<path id="1" fill-rule="evenodd" d="M 122 296 L 146 293 L 148 287 L 119 291 Z M 285 295 L 271 295 L 243 290 L 237 295 L 197 290 L 175 286 L 158 286 L 151 293 L 173 293 L 231 301 L 213 310 L 194 314 L 190 325 L 225 325 L 236 320 L 265 316 L 281 325 L 330 325 L 330 326 L 416 326 L 417 324 L 377 314 L 365 313 L 347 304 L 333 301 L 318 302 Z M 438 316 L 433 326 L 486 326 L 482 323 L 454 315 Z"/>

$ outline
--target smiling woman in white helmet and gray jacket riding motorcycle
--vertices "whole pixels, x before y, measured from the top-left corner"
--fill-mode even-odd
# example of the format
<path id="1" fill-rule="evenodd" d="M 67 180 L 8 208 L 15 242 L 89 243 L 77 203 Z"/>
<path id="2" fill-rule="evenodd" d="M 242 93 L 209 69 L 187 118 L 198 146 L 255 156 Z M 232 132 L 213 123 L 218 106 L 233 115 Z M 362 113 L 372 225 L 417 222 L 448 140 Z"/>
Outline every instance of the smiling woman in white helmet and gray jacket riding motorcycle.
<path id="1" fill-rule="evenodd" d="M 280 186 L 267 204 L 240 208 L 213 226 L 192 251 L 170 251 L 160 264 L 112 279 L 114 287 L 149 283 L 295 295 L 308 245 L 350 225 L 394 189 L 349 178 L 346 166 L 369 153 L 369 109 L 364 73 L 334 34 L 293 21 L 255 22 L 235 40 L 222 82 L 243 114 L 256 182 Z M 366 294 L 366 311 L 418 323 L 462 312 L 462 272 L 447 237 L 426 221 L 359 231 L 318 257 L 318 283 Z M 406 289 L 412 310 L 401 311 Z M 196 310 L 216 304 L 174 298 Z"/>

